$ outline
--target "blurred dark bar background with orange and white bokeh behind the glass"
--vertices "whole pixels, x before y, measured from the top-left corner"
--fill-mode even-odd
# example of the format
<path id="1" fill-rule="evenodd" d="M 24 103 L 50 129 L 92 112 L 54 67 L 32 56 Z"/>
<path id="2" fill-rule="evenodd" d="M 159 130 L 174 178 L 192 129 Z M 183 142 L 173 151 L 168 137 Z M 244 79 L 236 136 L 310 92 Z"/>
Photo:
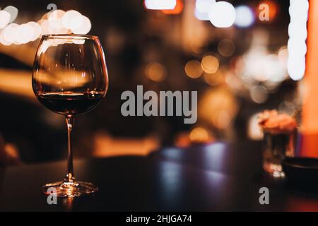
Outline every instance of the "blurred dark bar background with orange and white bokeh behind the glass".
<path id="1" fill-rule="evenodd" d="M 66 156 L 64 118 L 45 109 L 31 85 L 37 44 L 49 33 L 98 35 L 105 51 L 109 90 L 93 112 L 76 119 L 76 157 L 260 140 L 257 113 L 296 114 L 301 104 L 302 65 L 288 64 L 288 50 L 303 49 L 293 49 L 288 38 L 302 31 L 290 26 L 289 1 L 226 2 L 211 13 L 213 0 L 2 0 L 0 149 L 9 157 L 1 163 Z M 197 90 L 196 124 L 184 124 L 183 117 L 123 117 L 120 96 L 136 93 L 136 85 L 144 92 Z"/>

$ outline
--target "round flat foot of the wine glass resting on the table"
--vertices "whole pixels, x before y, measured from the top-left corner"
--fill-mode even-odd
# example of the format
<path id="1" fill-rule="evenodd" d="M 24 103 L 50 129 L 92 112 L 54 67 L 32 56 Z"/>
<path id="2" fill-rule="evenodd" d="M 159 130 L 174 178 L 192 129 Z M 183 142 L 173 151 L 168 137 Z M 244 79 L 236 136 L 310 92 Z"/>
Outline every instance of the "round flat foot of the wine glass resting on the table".
<path id="1" fill-rule="evenodd" d="M 77 196 L 94 194 L 98 187 L 89 182 L 55 182 L 42 186 L 42 192 L 57 197 L 73 198 Z"/>

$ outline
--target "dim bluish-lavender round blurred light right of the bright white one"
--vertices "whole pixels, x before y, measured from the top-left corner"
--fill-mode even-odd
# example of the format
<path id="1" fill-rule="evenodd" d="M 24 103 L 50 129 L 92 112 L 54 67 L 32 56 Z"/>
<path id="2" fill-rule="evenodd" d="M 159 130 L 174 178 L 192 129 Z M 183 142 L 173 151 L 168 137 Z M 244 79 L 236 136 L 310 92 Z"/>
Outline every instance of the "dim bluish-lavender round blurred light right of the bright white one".
<path id="1" fill-rule="evenodd" d="M 235 25 L 240 28 L 247 28 L 255 21 L 254 12 L 249 6 L 237 6 L 235 8 Z"/>

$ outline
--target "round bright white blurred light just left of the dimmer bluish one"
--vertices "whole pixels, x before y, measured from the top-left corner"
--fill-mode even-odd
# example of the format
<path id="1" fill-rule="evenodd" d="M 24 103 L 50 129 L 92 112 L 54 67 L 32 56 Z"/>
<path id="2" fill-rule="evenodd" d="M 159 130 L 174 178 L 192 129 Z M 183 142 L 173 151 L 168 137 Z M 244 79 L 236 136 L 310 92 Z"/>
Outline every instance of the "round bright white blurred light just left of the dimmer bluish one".
<path id="1" fill-rule="evenodd" d="M 235 8 L 228 1 L 217 1 L 208 11 L 208 18 L 216 28 L 229 28 L 235 22 Z"/>

